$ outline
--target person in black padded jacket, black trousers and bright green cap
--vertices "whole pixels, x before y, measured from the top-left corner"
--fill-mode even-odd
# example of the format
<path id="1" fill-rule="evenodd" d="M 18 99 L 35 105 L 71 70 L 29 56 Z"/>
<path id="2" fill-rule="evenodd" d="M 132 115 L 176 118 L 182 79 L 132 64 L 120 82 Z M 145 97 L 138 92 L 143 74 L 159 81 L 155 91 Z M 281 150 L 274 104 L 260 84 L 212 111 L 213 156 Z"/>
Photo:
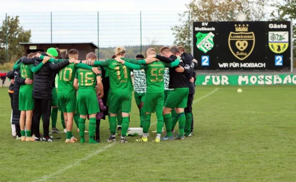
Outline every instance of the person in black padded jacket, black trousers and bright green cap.
<path id="1" fill-rule="evenodd" d="M 57 50 L 53 47 L 48 48 L 46 53 L 43 52 L 44 56 L 55 57 L 58 56 Z M 34 58 L 22 58 L 24 64 L 34 64 L 37 66 L 42 59 L 38 57 Z M 49 137 L 49 119 L 51 113 L 51 98 L 52 98 L 52 82 L 53 82 L 53 71 L 59 71 L 64 67 L 68 66 L 75 60 L 65 60 L 58 64 L 53 64 L 51 62 L 45 63 L 42 68 L 34 74 L 34 84 L 33 84 L 33 97 L 35 98 L 35 108 L 34 108 L 34 134 L 35 141 L 48 141 L 52 142 L 53 138 Z M 39 125 L 41 114 L 43 114 L 43 138 L 40 138 Z"/>

